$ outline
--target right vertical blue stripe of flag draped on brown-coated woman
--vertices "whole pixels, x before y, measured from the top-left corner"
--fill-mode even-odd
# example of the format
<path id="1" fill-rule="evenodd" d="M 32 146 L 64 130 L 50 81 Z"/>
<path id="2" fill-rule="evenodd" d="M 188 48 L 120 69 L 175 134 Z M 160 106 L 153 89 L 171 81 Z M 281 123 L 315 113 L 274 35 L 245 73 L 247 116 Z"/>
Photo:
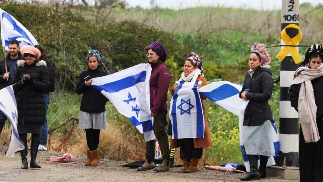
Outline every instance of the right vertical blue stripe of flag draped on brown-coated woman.
<path id="1" fill-rule="evenodd" d="M 197 83 L 196 83 L 197 84 Z M 197 93 L 197 87 L 196 84 L 194 85 L 194 87 L 192 88 L 194 95 L 195 95 L 195 99 L 196 99 L 196 138 L 204 138 L 204 121 L 203 121 L 203 109 L 201 106 L 201 100 L 200 100 L 200 96 Z"/>

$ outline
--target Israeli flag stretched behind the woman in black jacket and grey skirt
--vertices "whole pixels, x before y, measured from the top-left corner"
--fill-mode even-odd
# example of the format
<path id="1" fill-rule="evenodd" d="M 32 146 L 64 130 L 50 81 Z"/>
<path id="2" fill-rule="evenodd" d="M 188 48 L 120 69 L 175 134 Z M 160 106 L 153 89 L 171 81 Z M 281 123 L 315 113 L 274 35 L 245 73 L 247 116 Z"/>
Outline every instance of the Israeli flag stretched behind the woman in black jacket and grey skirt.
<path id="1" fill-rule="evenodd" d="M 239 131 L 240 131 L 240 148 L 242 152 L 243 161 L 245 163 L 247 172 L 250 171 L 248 156 L 243 153 L 242 145 L 244 143 L 242 133 L 243 133 L 243 120 L 244 111 L 249 103 L 249 101 L 244 101 L 239 98 L 239 92 L 242 90 L 241 84 L 233 84 L 228 81 L 219 81 L 208 84 L 198 90 L 200 94 L 209 98 L 214 103 L 220 105 L 226 110 L 232 112 L 239 117 Z M 279 155 L 279 133 L 275 123 L 272 124 L 273 141 L 275 147 L 275 156 Z M 275 165 L 274 157 L 270 157 L 267 166 Z M 258 162 L 260 165 L 260 162 Z"/>

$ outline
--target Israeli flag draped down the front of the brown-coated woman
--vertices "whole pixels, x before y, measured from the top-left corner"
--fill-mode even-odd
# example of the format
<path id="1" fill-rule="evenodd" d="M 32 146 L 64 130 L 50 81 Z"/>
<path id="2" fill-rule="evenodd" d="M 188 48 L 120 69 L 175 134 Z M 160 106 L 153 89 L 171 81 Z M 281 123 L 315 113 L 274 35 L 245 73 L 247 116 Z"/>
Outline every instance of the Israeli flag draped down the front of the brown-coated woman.
<path id="1" fill-rule="evenodd" d="M 203 138 L 204 116 L 197 83 L 176 81 L 179 84 L 170 107 L 173 126 L 172 139 Z"/>

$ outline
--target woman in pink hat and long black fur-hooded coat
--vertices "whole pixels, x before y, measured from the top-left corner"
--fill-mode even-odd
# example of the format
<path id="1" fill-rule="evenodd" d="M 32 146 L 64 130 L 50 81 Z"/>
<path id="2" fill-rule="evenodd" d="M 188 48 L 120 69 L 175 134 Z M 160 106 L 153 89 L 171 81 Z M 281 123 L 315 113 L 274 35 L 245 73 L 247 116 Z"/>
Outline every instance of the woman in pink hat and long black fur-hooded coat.
<path id="1" fill-rule="evenodd" d="M 46 62 L 38 61 L 39 50 L 32 46 L 21 48 L 25 60 L 17 61 L 17 71 L 14 78 L 13 89 L 16 95 L 18 109 L 18 133 L 25 149 L 20 151 L 22 169 L 28 169 L 27 162 L 27 133 L 32 134 L 31 139 L 31 168 L 40 168 L 36 162 L 39 134 L 45 121 L 44 91 L 49 87 L 49 73 Z"/>

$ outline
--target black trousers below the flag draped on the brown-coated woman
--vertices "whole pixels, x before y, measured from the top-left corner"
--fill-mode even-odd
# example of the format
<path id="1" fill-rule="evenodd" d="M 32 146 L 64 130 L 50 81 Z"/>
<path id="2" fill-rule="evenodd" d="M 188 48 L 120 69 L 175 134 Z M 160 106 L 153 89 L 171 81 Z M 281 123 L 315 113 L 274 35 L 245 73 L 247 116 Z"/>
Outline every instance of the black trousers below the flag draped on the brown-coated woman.
<path id="1" fill-rule="evenodd" d="M 201 158 L 203 155 L 203 148 L 195 148 L 193 138 L 177 139 L 180 147 L 180 158 L 182 160 L 190 161 L 193 158 Z"/>

